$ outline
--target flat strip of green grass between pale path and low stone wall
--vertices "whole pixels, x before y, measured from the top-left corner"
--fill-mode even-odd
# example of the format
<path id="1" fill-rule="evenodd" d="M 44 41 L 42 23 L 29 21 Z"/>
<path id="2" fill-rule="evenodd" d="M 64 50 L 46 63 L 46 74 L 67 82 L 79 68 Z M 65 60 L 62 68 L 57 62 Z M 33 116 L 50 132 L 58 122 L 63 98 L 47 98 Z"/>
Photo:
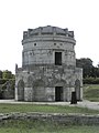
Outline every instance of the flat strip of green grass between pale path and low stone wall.
<path id="1" fill-rule="evenodd" d="M 43 112 L 43 113 L 82 113 L 82 114 L 99 114 L 99 111 L 87 108 L 78 108 L 73 105 L 40 105 L 40 104 L 0 104 L 0 113 L 11 112 Z"/>

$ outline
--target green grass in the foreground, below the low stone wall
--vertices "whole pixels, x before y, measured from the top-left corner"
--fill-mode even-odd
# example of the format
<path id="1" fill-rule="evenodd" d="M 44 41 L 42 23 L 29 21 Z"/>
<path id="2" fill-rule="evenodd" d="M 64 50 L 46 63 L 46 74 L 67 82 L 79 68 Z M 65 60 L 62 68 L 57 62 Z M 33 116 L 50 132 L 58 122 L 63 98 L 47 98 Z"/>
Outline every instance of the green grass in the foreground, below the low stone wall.
<path id="1" fill-rule="evenodd" d="M 0 133 L 99 133 L 98 125 L 65 125 L 41 121 L 12 121 L 0 124 Z"/>

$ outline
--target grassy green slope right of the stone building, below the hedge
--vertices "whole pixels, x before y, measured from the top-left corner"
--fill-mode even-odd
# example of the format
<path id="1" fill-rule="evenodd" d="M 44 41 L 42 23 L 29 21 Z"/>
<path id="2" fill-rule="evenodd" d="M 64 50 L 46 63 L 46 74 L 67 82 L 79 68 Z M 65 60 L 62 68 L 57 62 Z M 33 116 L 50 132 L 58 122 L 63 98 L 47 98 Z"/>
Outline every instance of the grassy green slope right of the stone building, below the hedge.
<path id="1" fill-rule="evenodd" d="M 99 102 L 99 84 L 84 85 L 84 99 L 91 102 Z"/>

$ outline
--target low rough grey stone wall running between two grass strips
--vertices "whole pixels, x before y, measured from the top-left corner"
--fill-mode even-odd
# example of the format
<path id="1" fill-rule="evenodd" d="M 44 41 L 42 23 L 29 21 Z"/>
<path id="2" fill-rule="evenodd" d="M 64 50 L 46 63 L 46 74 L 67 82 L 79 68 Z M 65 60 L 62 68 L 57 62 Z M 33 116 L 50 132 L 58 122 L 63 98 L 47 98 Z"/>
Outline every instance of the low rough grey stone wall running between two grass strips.
<path id="1" fill-rule="evenodd" d="M 63 124 L 99 125 L 99 115 L 59 113 L 7 113 L 0 114 L 0 122 L 7 120 L 53 121 Z"/>

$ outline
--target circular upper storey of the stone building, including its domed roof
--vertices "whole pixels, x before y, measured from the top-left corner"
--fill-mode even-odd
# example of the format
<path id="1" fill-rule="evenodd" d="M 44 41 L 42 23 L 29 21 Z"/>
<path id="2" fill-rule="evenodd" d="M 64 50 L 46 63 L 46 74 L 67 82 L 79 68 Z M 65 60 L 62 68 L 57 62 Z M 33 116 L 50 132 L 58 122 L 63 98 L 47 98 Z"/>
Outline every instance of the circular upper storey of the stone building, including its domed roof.
<path id="1" fill-rule="evenodd" d="M 23 32 L 22 65 L 75 65 L 74 31 L 57 27 L 40 27 Z"/>

